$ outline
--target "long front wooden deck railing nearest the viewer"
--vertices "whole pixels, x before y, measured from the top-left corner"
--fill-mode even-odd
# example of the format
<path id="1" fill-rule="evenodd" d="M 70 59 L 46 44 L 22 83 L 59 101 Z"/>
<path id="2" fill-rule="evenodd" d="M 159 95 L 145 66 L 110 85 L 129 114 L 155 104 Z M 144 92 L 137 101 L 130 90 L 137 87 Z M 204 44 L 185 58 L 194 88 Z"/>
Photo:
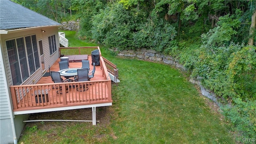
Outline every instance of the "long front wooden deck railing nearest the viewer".
<path id="1" fill-rule="evenodd" d="M 19 108 L 112 101 L 110 80 L 10 86 L 10 91 L 14 111 Z"/>

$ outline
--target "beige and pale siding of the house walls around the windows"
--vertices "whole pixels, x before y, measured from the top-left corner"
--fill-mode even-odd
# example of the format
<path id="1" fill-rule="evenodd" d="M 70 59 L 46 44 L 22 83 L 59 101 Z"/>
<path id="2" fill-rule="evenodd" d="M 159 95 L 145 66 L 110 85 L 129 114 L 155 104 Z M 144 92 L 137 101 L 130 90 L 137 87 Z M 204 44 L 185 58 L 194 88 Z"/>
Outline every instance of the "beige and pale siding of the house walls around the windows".
<path id="1" fill-rule="evenodd" d="M 42 30 L 45 30 L 46 32 L 42 32 Z M 3 61 L 0 61 L 0 144 L 9 144 L 14 143 L 14 134 L 13 134 L 13 128 L 12 128 L 12 121 L 9 110 L 12 109 L 12 102 L 11 105 L 8 105 L 7 98 L 11 99 L 11 96 L 7 96 L 6 90 L 9 91 L 9 88 L 5 88 L 4 78 L 7 80 L 7 85 L 12 85 L 12 76 L 10 72 L 10 65 L 9 65 L 9 59 L 8 59 L 8 52 L 6 48 L 6 40 L 12 40 L 14 38 L 24 37 L 28 35 L 34 35 L 36 34 L 37 42 L 39 39 L 42 40 L 43 44 L 43 51 L 44 51 L 44 60 L 45 60 L 45 66 L 46 69 L 48 69 L 48 65 L 52 66 L 54 62 L 59 58 L 59 40 L 58 40 L 58 27 L 44 27 L 44 28 L 32 28 L 32 29 L 26 29 L 26 30 L 16 30 L 15 32 L 8 32 L 8 34 L 1 34 L 1 51 L 2 51 L 2 58 Z M 49 49 L 49 41 L 48 37 L 55 34 L 56 37 L 56 47 L 57 51 L 54 52 L 50 56 L 50 49 Z M 39 50 L 39 44 L 38 44 L 38 52 Z M 40 54 L 39 54 L 40 55 Z M 1 60 L 1 59 L 0 59 Z M 41 63 L 41 62 L 40 62 Z M 2 65 L 4 64 L 4 65 Z M 41 65 L 40 65 L 41 66 Z M 2 70 L 5 70 L 5 75 L 3 74 Z M 33 84 L 33 80 L 35 80 L 35 83 L 40 80 L 42 77 L 43 71 L 41 68 L 36 70 L 34 74 L 30 76 L 27 80 L 25 80 L 22 85 L 26 84 Z M 10 91 L 9 91 L 10 94 Z M 9 106 L 11 108 L 9 108 Z M 25 122 L 24 120 L 28 120 L 29 114 L 22 114 L 22 115 L 15 115 L 14 116 L 14 127 L 15 127 L 15 134 L 17 136 L 17 139 L 19 138 L 24 126 Z"/>

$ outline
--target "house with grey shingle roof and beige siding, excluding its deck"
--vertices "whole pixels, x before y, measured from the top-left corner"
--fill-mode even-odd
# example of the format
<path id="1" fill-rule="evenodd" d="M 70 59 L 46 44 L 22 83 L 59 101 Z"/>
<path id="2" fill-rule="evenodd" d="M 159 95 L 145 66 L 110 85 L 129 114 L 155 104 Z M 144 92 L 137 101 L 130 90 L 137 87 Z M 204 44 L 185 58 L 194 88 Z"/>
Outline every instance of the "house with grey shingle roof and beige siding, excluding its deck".
<path id="1" fill-rule="evenodd" d="M 57 48 L 60 46 L 56 36 L 60 25 L 12 1 L 0 1 L 1 144 L 17 143 L 26 124 L 22 121 L 29 117 L 28 114 L 13 114 L 9 86 L 32 84 L 46 70 L 42 62 L 53 64 L 59 56 Z M 51 41 L 50 48 L 48 41 Z M 42 48 L 43 53 L 40 52 Z"/>

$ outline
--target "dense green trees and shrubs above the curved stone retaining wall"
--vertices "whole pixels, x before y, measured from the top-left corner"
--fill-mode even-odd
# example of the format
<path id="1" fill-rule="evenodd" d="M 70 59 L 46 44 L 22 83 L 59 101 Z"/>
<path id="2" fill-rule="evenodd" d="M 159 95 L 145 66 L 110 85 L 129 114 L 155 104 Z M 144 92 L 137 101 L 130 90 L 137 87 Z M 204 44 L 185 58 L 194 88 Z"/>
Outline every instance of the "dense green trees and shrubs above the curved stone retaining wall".
<path id="1" fill-rule="evenodd" d="M 256 30 L 250 28 L 255 0 L 68 2 L 81 20 L 81 38 L 111 49 L 147 48 L 179 58 L 203 86 L 232 103 L 223 111 L 242 136 L 256 135 Z M 249 39 L 254 46 L 247 45 Z"/>

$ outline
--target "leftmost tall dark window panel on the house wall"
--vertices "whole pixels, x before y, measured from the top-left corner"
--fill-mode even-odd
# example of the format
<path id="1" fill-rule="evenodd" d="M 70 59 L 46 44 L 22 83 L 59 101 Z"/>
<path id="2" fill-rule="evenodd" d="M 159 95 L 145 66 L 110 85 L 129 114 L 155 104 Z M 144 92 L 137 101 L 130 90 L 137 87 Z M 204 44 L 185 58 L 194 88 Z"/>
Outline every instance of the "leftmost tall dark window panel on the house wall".
<path id="1" fill-rule="evenodd" d="M 6 41 L 10 70 L 12 74 L 12 84 L 19 85 L 22 83 L 20 75 L 20 65 L 18 61 L 18 52 L 15 40 Z"/>

